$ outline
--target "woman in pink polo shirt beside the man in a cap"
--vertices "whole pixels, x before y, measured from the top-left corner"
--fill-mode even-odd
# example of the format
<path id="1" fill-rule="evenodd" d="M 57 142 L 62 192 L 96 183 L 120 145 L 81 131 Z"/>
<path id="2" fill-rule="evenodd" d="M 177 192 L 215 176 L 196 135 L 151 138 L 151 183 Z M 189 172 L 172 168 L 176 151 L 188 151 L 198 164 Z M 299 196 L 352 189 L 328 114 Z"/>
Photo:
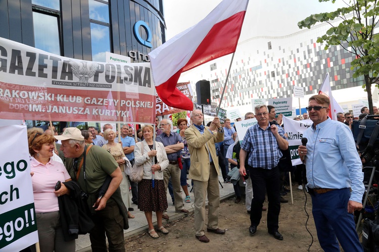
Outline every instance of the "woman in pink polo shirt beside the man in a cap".
<path id="1" fill-rule="evenodd" d="M 65 166 L 52 160 L 55 139 L 36 133 L 29 137 L 35 215 L 41 252 L 75 251 L 75 240 L 65 241 L 59 219 L 58 197 L 69 194 L 64 183 L 71 180 Z M 59 187 L 59 185 L 57 185 Z M 33 247 L 33 246 L 32 246 Z"/>

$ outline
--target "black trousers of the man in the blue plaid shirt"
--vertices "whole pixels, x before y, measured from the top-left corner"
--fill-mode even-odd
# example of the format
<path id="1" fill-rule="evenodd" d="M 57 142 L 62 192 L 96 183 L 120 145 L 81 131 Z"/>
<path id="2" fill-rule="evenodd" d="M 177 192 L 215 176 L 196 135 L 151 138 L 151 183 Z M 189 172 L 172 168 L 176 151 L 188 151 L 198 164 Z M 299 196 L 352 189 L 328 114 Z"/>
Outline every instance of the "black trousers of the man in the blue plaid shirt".
<path id="1" fill-rule="evenodd" d="M 258 226 L 262 218 L 262 207 L 267 190 L 267 228 L 270 232 L 278 230 L 280 213 L 280 172 L 276 166 L 272 169 L 250 168 L 254 198 L 251 201 L 250 221 L 252 226 Z"/>

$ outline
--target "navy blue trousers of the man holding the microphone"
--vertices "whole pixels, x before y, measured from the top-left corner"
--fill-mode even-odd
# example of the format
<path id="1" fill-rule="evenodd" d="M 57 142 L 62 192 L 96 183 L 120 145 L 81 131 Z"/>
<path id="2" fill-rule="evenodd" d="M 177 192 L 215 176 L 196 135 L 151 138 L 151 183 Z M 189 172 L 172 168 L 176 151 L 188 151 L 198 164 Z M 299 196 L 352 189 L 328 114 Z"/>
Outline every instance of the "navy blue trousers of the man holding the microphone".
<path id="1" fill-rule="evenodd" d="M 339 252 L 338 241 L 345 252 L 363 251 L 355 231 L 354 216 L 347 212 L 349 198 L 350 188 L 312 195 L 312 214 L 317 237 L 325 251 Z"/>

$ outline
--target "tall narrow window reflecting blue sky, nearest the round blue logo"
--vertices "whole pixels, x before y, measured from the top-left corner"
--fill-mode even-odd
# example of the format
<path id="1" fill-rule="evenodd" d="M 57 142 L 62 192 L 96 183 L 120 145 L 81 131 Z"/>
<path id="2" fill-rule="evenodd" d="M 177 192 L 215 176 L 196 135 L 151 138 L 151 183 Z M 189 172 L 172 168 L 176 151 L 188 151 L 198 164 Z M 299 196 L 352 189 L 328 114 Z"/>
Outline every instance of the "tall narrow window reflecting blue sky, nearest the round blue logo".
<path id="1" fill-rule="evenodd" d="M 109 4 L 104 0 L 88 0 L 91 26 L 92 60 L 105 62 L 105 53 L 111 51 Z"/>

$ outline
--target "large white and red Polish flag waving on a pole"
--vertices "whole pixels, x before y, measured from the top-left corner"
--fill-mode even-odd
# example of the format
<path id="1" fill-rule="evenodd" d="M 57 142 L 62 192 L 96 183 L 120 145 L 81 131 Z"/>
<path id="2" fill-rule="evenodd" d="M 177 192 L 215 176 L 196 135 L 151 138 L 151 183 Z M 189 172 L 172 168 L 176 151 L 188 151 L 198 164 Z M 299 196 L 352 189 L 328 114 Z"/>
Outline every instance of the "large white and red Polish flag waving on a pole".
<path id="1" fill-rule="evenodd" d="M 235 51 L 249 0 L 223 0 L 205 19 L 149 53 L 159 97 L 171 107 L 194 105 L 176 84 L 182 72 Z"/>

